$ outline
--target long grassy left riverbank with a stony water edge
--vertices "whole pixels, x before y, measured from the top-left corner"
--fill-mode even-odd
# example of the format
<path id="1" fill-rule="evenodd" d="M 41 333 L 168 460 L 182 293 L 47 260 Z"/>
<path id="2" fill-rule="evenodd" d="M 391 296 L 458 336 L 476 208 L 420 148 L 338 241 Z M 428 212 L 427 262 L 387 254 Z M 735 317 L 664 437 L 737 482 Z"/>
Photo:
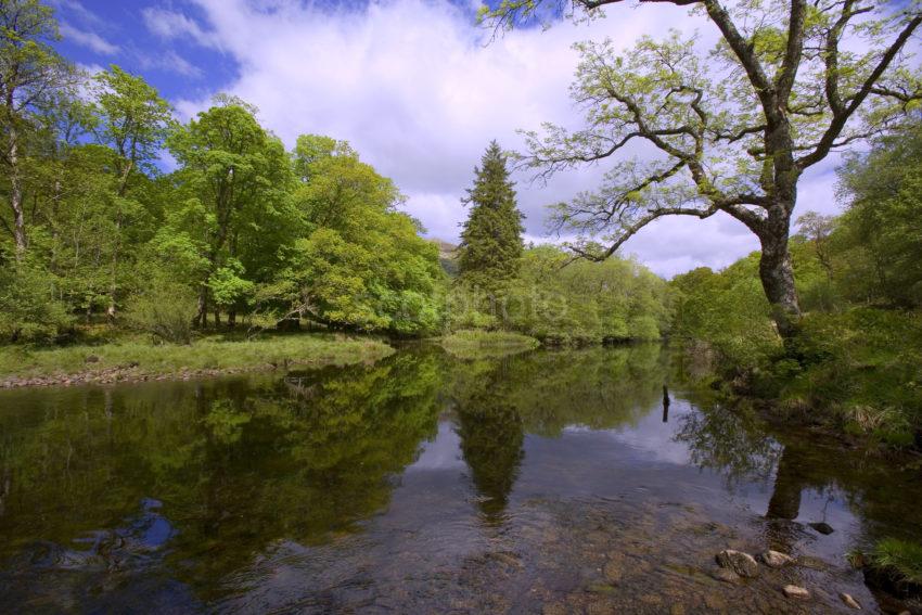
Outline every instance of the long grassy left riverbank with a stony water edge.
<path id="1" fill-rule="evenodd" d="M 141 341 L 62 348 L 8 346 L 0 348 L 0 388 L 183 380 L 292 366 L 345 366 L 373 362 L 393 351 L 376 338 L 318 333 L 249 341 L 215 336 L 188 346 L 155 346 Z"/>

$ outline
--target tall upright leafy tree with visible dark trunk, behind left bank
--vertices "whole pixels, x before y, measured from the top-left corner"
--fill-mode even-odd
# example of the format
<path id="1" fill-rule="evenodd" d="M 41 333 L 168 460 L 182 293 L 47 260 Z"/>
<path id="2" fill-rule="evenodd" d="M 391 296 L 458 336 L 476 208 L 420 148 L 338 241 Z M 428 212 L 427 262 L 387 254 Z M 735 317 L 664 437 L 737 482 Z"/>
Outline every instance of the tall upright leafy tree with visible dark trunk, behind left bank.
<path id="1" fill-rule="evenodd" d="M 283 216 L 291 188 L 291 164 L 281 141 L 254 117 L 256 110 L 232 97 L 219 97 L 216 106 L 177 130 L 167 144 L 182 168 L 176 181 L 184 191 L 167 213 L 167 225 L 154 240 L 163 254 L 181 261 L 199 285 L 200 326 L 207 324 L 213 297 L 215 320 L 246 291 L 245 248 L 274 255 L 267 244 L 267 226 Z M 231 318 L 231 320 L 233 320 Z"/>

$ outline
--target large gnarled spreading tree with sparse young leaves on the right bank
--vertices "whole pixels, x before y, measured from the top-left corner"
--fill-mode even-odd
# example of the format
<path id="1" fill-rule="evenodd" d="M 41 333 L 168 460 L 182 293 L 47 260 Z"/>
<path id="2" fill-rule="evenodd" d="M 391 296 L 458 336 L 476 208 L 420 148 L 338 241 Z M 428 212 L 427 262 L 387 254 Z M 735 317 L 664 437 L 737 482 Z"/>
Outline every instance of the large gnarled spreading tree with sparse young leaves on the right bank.
<path id="1" fill-rule="evenodd" d="M 622 1 L 572 5 L 594 16 Z M 602 259 L 663 216 L 728 214 L 760 242 L 763 290 L 790 339 L 801 317 L 787 249 L 798 180 L 922 100 L 906 57 L 922 12 L 915 2 L 660 1 L 707 16 L 720 33 L 712 55 L 676 33 L 644 37 L 620 55 L 610 40 L 579 44 L 573 92 L 586 127 L 530 132 L 525 164 L 547 177 L 645 143 L 651 157 L 615 162 L 596 192 L 556 207 L 555 222 L 582 236 L 573 248 Z M 547 14 L 541 7 L 503 0 L 484 17 L 511 27 Z M 587 235 L 603 235 L 609 246 L 596 248 Z"/>

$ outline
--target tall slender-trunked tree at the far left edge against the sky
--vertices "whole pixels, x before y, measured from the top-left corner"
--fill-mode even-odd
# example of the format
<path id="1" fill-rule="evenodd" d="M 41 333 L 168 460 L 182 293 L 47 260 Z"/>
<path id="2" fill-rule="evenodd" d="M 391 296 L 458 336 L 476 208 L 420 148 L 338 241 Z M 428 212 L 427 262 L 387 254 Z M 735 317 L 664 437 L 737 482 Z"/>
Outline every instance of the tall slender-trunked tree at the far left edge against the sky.
<path id="1" fill-rule="evenodd" d="M 0 130 L 4 192 L 12 220 L 0 218 L 13 236 L 16 256 L 28 245 L 24 212 L 24 136 L 35 128 L 36 115 L 73 81 L 67 62 L 51 47 L 57 40 L 52 10 L 37 0 L 0 0 Z"/>

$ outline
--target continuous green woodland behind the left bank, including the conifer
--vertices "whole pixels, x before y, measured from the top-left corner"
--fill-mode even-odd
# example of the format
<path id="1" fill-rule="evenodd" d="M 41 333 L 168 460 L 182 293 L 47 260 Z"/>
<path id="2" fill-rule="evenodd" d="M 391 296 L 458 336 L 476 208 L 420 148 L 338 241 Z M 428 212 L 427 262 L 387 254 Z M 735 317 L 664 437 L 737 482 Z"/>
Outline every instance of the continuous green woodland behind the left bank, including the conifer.
<path id="1" fill-rule="evenodd" d="M 18 67 L 3 85 L 13 101 L 0 189 L 5 344 L 123 334 L 190 344 L 299 321 L 398 336 L 665 331 L 666 284 L 649 270 L 613 259 L 558 272 L 566 255 L 525 251 L 517 226 L 500 240 L 513 252 L 497 253 L 507 270 L 468 256 L 491 249 L 474 238 L 458 257 L 464 282 L 452 284 L 437 244 L 401 212 L 399 188 L 348 143 L 304 134 L 286 151 L 256 107 L 225 94 L 182 124 L 142 77 L 115 65 L 88 75 L 60 56 L 52 13 L 33 11 L 17 25 L 27 44 L 4 47 Z M 498 145 L 478 181 L 509 184 Z M 600 298 L 598 287 L 613 292 Z"/>

